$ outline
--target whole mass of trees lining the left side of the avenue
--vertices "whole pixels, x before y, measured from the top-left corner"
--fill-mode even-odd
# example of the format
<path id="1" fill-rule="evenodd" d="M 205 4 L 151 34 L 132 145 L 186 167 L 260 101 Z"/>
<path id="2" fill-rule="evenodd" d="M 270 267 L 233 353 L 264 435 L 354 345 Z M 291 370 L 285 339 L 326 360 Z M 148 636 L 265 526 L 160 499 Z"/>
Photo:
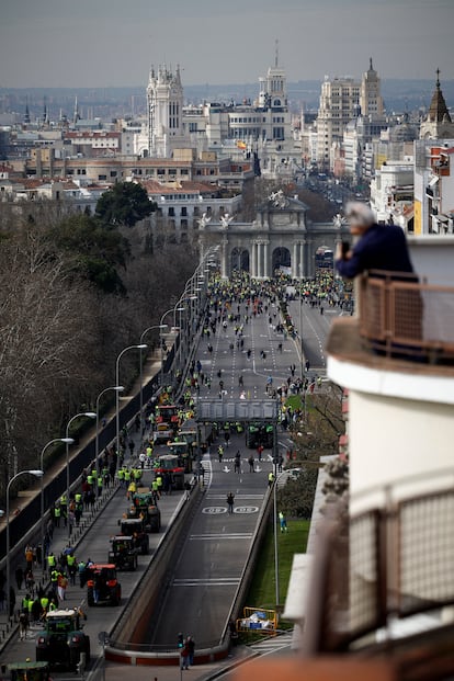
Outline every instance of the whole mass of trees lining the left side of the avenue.
<path id="1" fill-rule="evenodd" d="M 147 248 L 155 208 L 138 185 L 106 192 L 94 216 L 23 204 L 0 231 L 0 500 L 42 446 L 114 385 L 115 360 L 159 324 L 197 263 L 196 245 Z M 122 383 L 137 372 L 122 361 Z M 3 498 L 2 498 L 3 497 Z"/>

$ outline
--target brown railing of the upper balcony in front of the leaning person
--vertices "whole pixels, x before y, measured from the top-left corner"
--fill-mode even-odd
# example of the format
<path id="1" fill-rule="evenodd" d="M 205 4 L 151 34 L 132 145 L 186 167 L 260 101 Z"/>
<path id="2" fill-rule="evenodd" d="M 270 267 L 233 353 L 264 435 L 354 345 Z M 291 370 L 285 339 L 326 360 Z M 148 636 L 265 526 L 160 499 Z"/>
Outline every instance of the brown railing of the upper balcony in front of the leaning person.
<path id="1" fill-rule="evenodd" d="M 386 356 L 452 361 L 454 287 L 415 283 L 412 279 L 405 273 L 379 271 L 361 279 L 361 337 Z"/>

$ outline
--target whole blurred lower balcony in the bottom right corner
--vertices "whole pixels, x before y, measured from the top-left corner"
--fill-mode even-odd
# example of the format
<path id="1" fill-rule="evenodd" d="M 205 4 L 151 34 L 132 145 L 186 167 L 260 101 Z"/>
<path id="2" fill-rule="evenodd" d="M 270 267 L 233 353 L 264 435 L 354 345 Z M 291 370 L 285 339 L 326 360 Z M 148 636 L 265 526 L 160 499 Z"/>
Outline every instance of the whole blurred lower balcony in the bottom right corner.
<path id="1" fill-rule="evenodd" d="M 333 509 L 318 529 L 305 655 L 388 660 L 400 680 L 453 678 L 453 480 L 445 470 L 419 493 L 418 477 L 396 483 L 351 518 Z"/>

